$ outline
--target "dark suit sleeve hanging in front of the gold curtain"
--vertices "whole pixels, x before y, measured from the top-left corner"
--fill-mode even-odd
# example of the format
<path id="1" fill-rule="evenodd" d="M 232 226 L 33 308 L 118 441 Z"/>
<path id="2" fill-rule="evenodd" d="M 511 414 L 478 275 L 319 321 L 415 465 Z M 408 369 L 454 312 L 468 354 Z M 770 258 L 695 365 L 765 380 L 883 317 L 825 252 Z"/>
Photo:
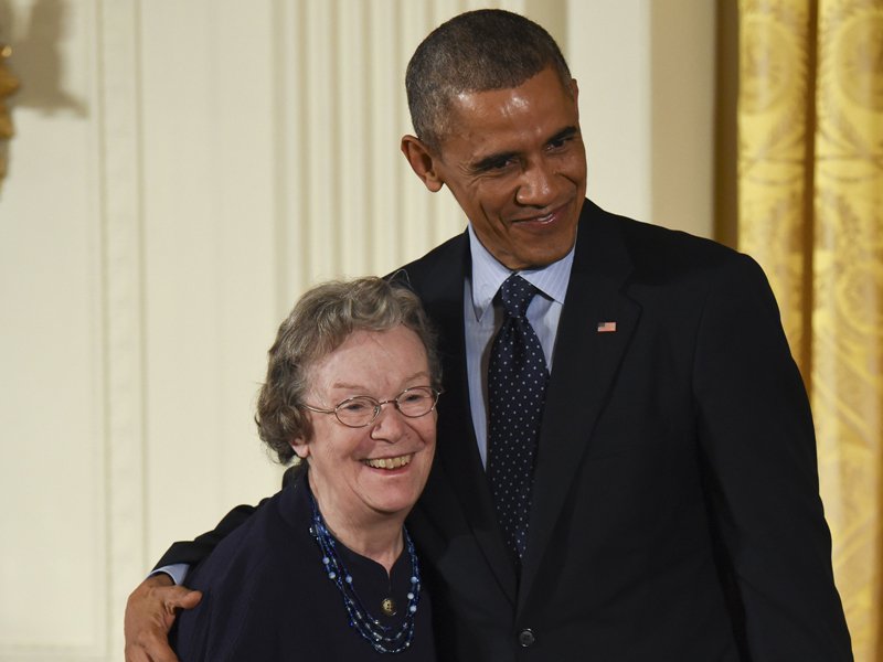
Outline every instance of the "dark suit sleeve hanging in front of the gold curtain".
<path id="1" fill-rule="evenodd" d="M 812 418 L 775 299 L 745 256 L 709 292 L 694 361 L 700 452 L 749 659 L 852 660 Z"/>

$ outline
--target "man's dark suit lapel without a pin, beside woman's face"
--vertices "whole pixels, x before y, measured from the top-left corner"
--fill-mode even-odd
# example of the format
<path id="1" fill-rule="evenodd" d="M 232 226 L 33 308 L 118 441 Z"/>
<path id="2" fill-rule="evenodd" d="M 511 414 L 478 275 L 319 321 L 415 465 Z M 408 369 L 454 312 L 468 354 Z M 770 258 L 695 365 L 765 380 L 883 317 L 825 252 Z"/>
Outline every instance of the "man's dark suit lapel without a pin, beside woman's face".
<path id="1" fill-rule="evenodd" d="M 434 490 L 451 490 L 497 581 L 514 605 L 518 578 L 507 554 L 469 407 L 464 339 L 464 278 L 471 269 L 466 233 L 405 268 L 439 334 L 443 382 L 438 402 L 436 462 L 422 500 L 432 510 Z M 444 522 L 446 513 L 433 513 Z"/>

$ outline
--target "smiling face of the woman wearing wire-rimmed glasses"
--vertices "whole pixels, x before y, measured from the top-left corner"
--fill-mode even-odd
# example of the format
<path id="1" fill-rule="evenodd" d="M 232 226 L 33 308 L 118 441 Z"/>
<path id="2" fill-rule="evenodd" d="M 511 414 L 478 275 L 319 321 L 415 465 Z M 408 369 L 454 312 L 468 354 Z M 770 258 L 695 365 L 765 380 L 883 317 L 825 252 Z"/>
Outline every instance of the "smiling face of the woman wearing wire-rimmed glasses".
<path id="1" fill-rule="evenodd" d="M 353 332 L 312 366 L 310 382 L 306 402 L 322 409 L 357 395 L 392 399 L 432 383 L 426 350 L 406 327 Z M 326 520 L 350 525 L 390 515 L 404 520 L 429 476 L 436 412 L 407 418 L 390 403 L 362 428 L 347 427 L 333 414 L 309 415 L 312 439 L 294 447 L 309 460 L 310 487 Z"/>

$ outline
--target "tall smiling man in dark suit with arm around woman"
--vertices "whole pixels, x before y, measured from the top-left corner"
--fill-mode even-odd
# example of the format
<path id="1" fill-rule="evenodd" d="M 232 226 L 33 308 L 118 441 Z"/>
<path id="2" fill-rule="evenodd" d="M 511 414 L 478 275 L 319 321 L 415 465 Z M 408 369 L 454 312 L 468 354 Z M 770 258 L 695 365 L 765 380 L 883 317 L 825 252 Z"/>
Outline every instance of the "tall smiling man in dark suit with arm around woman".
<path id="1" fill-rule="evenodd" d="M 576 82 L 521 17 L 442 25 L 407 92 L 402 150 L 469 218 L 397 276 L 444 360 L 437 459 L 408 523 L 442 659 L 851 660 L 811 416 L 757 265 L 585 200 Z M 515 533 L 487 479 L 514 452 L 487 378 L 513 273 L 546 375 Z M 196 563 L 247 510 L 160 564 Z M 168 581 L 130 598 L 134 661 L 142 644 L 162 659 L 170 608 L 195 600 Z"/>

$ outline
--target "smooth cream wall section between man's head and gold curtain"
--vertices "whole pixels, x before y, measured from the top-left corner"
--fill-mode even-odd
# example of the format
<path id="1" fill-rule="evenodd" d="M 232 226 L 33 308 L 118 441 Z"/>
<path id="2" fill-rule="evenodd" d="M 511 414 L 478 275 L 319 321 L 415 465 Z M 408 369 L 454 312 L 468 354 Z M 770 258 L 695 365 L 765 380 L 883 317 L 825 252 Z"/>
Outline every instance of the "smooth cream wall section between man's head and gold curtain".
<path id="1" fill-rule="evenodd" d="M 603 207 L 712 236 L 715 3 L 567 4 L 588 196 Z"/>

